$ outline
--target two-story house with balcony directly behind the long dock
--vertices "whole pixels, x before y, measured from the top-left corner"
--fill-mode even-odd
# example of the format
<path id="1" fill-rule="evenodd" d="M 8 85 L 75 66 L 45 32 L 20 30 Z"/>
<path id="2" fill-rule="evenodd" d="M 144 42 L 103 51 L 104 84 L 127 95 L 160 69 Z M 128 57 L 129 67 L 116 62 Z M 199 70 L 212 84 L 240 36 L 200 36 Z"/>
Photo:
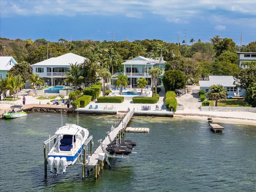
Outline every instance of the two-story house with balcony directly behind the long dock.
<path id="1" fill-rule="evenodd" d="M 148 81 L 148 85 L 151 85 L 151 76 L 148 74 L 148 70 L 158 66 L 162 68 L 162 74 L 159 76 L 158 85 L 162 86 L 162 75 L 164 74 L 164 66 L 166 61 L 153 60 L 152 58 L 145 58 L 138 56 L 132 60 L 123 62 L 124 66 L 124 75 L 128 76 L 128 86 L 130 88 L 137 87 L 137 80 L 140 78 L 145 78 Z"/>

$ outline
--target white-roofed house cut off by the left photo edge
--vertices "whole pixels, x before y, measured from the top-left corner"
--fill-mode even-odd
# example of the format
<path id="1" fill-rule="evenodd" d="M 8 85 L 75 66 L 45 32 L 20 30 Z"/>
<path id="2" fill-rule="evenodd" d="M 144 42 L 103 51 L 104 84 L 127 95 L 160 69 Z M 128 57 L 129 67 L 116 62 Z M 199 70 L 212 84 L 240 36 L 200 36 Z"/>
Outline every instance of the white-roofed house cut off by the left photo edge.
<path id="1" fill-rule="evenodd" d="M 0 79 L 6 78 L 8 71 L 16 64 L 12 56 L 0 56 Z"/>

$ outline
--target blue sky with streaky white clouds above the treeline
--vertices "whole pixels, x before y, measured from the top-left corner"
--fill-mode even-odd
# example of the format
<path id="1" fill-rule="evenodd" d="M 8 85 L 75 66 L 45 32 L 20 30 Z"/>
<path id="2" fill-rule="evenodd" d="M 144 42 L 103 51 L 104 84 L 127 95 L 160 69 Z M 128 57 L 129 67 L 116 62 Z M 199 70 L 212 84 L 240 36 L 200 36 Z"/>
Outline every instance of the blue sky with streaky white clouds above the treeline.
<path id="1" fill-rule="evenodd" d="M 114 35 L 113 35 L 114 34 Z M 0 0 L 0 37 L 178 42 L 256 40 L 255 0 Z"/>

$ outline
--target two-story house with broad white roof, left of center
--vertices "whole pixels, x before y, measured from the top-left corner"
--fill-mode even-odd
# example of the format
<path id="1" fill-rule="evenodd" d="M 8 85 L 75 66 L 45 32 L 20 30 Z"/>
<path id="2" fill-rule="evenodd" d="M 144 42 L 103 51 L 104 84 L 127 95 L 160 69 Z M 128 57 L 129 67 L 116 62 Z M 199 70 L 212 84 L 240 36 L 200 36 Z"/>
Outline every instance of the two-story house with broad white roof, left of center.
<path id="1" fill-rule="evenodd" d="M 66 78 L 66 71 L 71 68 L 70 64 L 81 64 L 85 59 L 85 57 L 67 53 L 33 64 L 33 73 L 39 74 L 44 82 L 49 82 L 50 86 L 60 85 Z"/>

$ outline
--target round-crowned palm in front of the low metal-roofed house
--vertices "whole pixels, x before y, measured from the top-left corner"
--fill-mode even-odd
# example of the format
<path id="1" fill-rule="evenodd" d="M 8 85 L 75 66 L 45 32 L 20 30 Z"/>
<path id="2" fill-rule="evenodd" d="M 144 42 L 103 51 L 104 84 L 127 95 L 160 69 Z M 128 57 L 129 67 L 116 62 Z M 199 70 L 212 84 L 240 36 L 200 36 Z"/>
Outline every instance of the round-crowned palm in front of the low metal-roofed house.
<path id="1" fill-rule="evenodd" d="M 218 100 L 226 99 L 227 93 L 224 87 L 220 84 L 210 86 L 210 92 L 207 93 L 209 99 L 215 100 L 215 106 L 218 106 Z"/>

